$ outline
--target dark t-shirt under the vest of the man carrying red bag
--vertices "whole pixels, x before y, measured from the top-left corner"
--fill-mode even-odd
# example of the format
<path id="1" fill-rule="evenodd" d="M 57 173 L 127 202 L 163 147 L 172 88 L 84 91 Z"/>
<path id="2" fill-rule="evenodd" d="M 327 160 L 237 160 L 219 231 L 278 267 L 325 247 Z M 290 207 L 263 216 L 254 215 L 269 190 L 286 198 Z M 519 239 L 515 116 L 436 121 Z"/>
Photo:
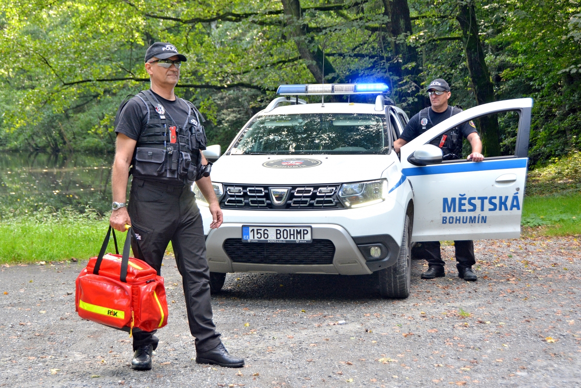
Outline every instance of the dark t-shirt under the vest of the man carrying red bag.
<path id="1" fill-rule="evenodd" d="M 184 127 L 186 120 L 188 118 L 188 105 L 181 101 L 177 96 L 174 101 L 170 101 L 161 97 L 159 94 L 153 92 L 153 95 L 157 98 L 160 104 L 166 109 L 166 118 L 168 124 L 171 123 L 171 119 L 174 119 L 175 123 L 179 127 Z M 157 112 L 155 112 L 157 114 Z M 137 140 L 141 130 L 147 125 L 148 112 L 147 107 L 144 102 L 141 101 L 139 97 L 134 97 L 127 102 L 124 106 L 121 115 L 119 116 L 119 124 L 115 129 L 116 133 L 123 133 L 125 136 Z"/>

